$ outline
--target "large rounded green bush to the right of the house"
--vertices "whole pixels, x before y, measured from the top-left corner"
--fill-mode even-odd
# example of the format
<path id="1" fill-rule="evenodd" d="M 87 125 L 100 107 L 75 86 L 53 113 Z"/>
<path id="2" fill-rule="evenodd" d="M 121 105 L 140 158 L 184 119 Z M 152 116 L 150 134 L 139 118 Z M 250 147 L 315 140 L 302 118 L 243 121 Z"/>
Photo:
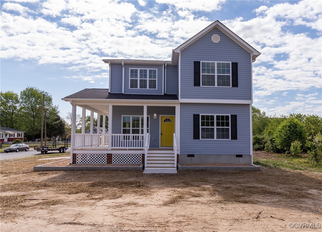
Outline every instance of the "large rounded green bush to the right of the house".
<path id="1" fill-rule="evenodd" d="M 287 118 L 283 121 L 274 133 L 277 147 L 287 151 L 290 150 L 292 142 L 296 140 L 301 144 L 305 144 L 306 137 L 304 125 L 301 124 L 298 119 L 293 117 Z"/>

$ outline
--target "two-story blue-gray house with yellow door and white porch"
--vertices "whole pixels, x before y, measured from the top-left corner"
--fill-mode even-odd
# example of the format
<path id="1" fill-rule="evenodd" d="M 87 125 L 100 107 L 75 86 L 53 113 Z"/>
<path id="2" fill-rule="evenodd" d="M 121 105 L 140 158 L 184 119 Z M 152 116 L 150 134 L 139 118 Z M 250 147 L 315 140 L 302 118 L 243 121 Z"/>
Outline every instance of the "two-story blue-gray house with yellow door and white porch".
<path id="1" fill-rule="evenodd" d="M 215 21 L 172 50 L 171 61 L 104 59 L 109 89 L 72 105 L 72 163 L 252 163 L 252 62 L 260 55 Z M 76 107 L 108 116 L 108 133 L 75 133 Z M 85 125 L 85 120 L 83 120 Z M 105 127 L 105 125 L 103 125 Z M 83 126 L 82 126 L 83 128 Z"/>

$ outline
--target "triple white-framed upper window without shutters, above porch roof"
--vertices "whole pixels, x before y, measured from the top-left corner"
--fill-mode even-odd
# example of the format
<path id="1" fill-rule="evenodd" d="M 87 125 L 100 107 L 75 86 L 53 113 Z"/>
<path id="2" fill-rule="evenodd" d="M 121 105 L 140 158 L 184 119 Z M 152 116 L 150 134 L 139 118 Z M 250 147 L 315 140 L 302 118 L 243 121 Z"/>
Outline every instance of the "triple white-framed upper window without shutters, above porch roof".
<path id="1" fill-rule="evenodd" d="M 157 89 L 157 69 L 130 68 L 130 89 Z"/>

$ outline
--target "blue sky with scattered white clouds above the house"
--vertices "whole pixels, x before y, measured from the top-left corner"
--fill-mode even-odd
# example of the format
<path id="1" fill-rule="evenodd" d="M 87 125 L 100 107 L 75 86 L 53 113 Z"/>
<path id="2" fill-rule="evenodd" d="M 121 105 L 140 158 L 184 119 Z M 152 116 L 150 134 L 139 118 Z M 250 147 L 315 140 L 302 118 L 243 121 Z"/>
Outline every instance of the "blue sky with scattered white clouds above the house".
<path id="1" fill-rule="evenodd" d="M 322 116 L 322 1 L 1 0 L 1 91 L 28 86 L 61 99 L 109 88 L 102 59 L 171 60 L 172 49 L 219 20 L 261 52 L 253 106 Z"/>

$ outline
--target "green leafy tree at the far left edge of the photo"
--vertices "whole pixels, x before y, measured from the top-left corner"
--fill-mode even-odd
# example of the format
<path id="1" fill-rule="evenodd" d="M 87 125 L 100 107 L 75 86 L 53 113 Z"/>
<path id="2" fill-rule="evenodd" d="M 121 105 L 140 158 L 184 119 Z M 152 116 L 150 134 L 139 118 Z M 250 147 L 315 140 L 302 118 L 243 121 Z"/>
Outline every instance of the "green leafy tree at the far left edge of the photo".
<path id="1" fill-rule="evenodd" d="M 13 91 L 0 92 L 0 123 L 1 126 L 17 128 L 19 115 L 19 96 Z"/>

